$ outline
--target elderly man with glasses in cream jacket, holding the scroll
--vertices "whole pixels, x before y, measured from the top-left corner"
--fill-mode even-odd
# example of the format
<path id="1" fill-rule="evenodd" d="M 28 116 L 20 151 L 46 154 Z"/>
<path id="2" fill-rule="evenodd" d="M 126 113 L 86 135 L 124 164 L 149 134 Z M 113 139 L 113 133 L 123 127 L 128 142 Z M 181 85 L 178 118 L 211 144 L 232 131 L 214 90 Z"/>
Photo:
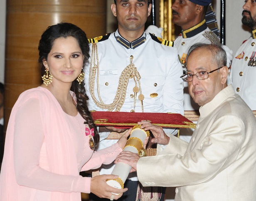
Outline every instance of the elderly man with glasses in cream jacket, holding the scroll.
<path id="1" fill-rule="evenodd" d="M 189 143 L 165 135 L 161 127 L 139 122 L 151 130 L 158 155 L 139 157 L 122 152 L 116 162 L 137 170 L 143 186 L 179 186 L 175 201 L 256 200 L 256 120 L 231 85 L 222 47 L 195 44 L 187 57 L 190 96 L 200 105 L 200 118 Z M 164 148 L 164 150 L 163 150 Z"/>

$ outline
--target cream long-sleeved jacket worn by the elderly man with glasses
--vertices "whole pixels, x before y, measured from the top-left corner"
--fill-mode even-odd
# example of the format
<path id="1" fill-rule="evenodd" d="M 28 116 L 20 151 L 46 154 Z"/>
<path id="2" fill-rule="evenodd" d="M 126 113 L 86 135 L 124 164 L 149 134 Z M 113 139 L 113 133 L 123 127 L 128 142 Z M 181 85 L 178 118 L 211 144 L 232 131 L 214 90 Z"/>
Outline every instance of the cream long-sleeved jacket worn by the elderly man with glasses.
<path id="1" fill-rule="evenodd" d="M 157 156 L 139 159 L 140 183 L 180 186 L 175 201 L 255 201 L 256 120 L 252 111 L 231 85 L 199 111 L 189 143 L 170 136 L 170 143 Z"/>

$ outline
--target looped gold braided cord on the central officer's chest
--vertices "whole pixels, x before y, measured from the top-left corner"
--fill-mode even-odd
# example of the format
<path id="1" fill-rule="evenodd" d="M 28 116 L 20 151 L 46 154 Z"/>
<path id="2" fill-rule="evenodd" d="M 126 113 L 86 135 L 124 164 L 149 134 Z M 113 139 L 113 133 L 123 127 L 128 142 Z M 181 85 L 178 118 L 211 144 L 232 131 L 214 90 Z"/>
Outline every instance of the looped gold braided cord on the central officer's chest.
<path id="1" fill-rule="evenodd" d="M 98 98 L 97 100 L 95 94 L 94 94 L 94 87 L 95 87 L 95 78 L 97 82 L 97 93 L 98 93 Z M 126 90 L 128 86 L 128 81 L 129 78 L 133 78 L 135 82 L 135 87 L 133 88 L 133 92 L 137 94 L 140 92 L 140 95 L 138 96 L 140 102 L 141 102 L 141 108 L 143 112 L 143 99 L 144 96 L 141 93 L 141 87 L 140 87 L 140 74 L 137 71 L 137 68 L 133 64 L 133 56 L 130 56 L 130 64 L 126 66 L 126 68 L 123 70 L 121 73 L 121 76 L 119 78 L 119 83 L 118 83 L 118 88 L 116 91 L 116 96 L 113 100 L 113 103 L 111 104 L 105 104 L 103 103 L 103 100 L 101 99 L 100 96 L 100 91 L 99 91 L 99 62 L 98 62 L 98 48 L 97 44 L 94 43 L 92 44 L 92 53 L 91 53 L 91 64 L 90 64 L 90 73 L 89 73 L 89 83 L 90 83 L 90 93 L 91 97 L 94 100 L 94 103 L 102 109 L 107 109 L 108 111 L 120 111 L 121 107 L 123 106 L 123 103 L 126 98 Z M 136 78 L 136 79 L 135 79 Z M 138 82 L 138 86 L 137 86 Z M 135 99 L 134 97 L 134 108 L 135 108 Z"/>

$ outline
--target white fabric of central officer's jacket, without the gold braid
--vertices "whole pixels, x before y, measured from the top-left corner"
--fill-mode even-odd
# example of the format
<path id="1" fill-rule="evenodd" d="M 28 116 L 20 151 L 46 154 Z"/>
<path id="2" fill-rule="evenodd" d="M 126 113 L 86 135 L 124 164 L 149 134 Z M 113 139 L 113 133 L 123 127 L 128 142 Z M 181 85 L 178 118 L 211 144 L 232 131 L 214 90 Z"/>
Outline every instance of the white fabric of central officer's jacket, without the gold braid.
<path id="1" fill-rule="evenodd" d="M 119 43 L 116 37 L 121 38 L 128 47 Z M 145 37 L 143 42 L 141 42 L 142 37 Z M 183 81 L 180 78 L 182 67 L 178 59 L 177 49 L 160 44 L 153 39 L 157 40 L 157 37 L 150 36 L 150 34 L 144 32 L 138 39 L 140 42 L 135 40 L 129 43 L 120 36 L 117 30 L 115 33 L 110 34 L 108 39 L 97 43 L 99 60 L 98 80 L 101 99 L 106 104 L 113 102 L 118 88 L 119 77 L 123 69 L 130 64 L 130 56 L 133 55 L 133 64 L 135 64 L 141 76 L 141 90 L 145 96 L 143 100 L 144 112 L 171 112 L 183 115 Z M 96 106 L 89 93 L 89 68 L 90 64 L 87 64 L 85 66 L 85 86 L 86 94 L 89 96 L 89 110 L 106 111 L 106 109 Z M 96 81 L 95 86 L 97 86 Z M 130 112 L 134 109 L 134 86 L 135 82 L 133 78 L 130 78 L 121 112 Z M 94 88 L 94 93 L 98 99 L 97 87 Z M 150 97 L 153 93 L 157 94 L 157 96 Z M 135 112 L 142 112 L 138 95 Z M 99 143 L 99 149 L 108 147 L 116 142 L 116 140 L 103 140 L 107 136 L 107 132 L 100 133 L 102 141 Z M 101 169 L 101 174 L 110 174 L 111 172 L 112 169 L 106 171 Z"/>

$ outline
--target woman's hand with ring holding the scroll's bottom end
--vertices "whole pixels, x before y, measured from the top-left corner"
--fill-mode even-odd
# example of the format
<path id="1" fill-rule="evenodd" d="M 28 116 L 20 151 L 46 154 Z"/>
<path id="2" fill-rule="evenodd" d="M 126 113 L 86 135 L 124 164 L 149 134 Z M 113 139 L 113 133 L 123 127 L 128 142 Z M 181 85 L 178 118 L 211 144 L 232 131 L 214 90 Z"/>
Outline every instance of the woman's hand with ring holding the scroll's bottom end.
<path id="1" fill-rule="evenodd" d="M 117 175 L 113 174 L 103 174 L 99 176 L 94 176 L 91 178 L 91 193 L 95 194 L 96 196 L 100 198 L 106 198 L 110 199 L 113 194 L 113 199 L 117 200 L 119 199 L 124 192 L 126 192 L 128 189 L 117 189 L 112 186 L 109 186 L 106 183 L 107 179 L 117 179 Z M 118 194 L 118 195 L 116 195 Z"/>

